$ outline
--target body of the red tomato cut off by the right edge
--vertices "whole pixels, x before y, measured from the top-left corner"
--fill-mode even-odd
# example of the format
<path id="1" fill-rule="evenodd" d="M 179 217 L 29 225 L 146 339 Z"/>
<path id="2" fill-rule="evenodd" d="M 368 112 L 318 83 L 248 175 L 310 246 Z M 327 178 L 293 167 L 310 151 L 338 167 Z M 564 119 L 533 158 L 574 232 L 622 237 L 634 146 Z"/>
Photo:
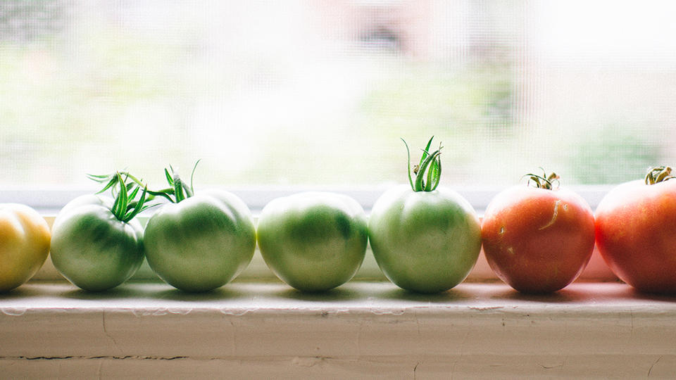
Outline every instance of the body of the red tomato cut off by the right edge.
<path id="1" fill-rule="evenodd" d="M 596 244 L 622 281 L 676 293 L 676 180 L 621 184 L 596 208 Z"/>

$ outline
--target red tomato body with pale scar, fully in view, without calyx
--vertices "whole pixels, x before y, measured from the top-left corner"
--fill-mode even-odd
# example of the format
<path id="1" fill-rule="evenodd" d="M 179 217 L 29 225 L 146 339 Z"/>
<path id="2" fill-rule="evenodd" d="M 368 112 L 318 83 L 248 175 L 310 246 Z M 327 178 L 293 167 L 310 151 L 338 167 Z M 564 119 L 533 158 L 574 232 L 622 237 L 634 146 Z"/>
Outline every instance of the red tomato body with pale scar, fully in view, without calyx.
<path id="1" fill-rule="evenodd" d="M 565 188 L 502 191 L 489 203 L 481 233 L 492 270 L 523 293 L 563 289 L 594 251 L 592 209 Z"/>

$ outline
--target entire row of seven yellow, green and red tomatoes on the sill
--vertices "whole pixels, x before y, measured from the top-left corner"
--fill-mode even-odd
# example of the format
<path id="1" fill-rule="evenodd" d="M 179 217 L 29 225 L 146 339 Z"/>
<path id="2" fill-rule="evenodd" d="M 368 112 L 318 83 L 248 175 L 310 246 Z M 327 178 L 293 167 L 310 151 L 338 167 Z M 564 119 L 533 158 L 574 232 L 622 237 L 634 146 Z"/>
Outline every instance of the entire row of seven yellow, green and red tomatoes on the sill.
<path id="1" fill-rule="evenodd" d="M 676 291 L 676 181 L 668 180 L 670 168 L 651 170 L 645 182 L 618 186 L 595 216 L 584 199 L 558 186 L 555 175 L 528 175 L 529 184 L 496 196 L 480 222 L 468 201 L 437 188 L 441 163 L 435 160 L 438 154 L 424 154 L 414 170 L 416 181 L 409 177 L 411 186 L 383 194 L 369 220 L 352 198 L 315 192 L 268 203 L 256 228 L 237 196 L 195 193 L 177 176 L 168 192 L 174 197 L 165 194 L 171 202 L 145 228 L 130 210 L 141 210 L 148 193 L 127 194 L 132 186 L 119 175 L 115 199 L 76 198 L 58 214 L 51 232 L 35 210 L 0 205 L 0 291 L 32 277 L 50 248 L 56 269 L 89 291 L 122 284 L 144 257 L 177 289 L 208 291 L 242 272 L 256 243 L 282 281 L 302 291 L 325 291 L 353 277 L 368 241 L 387 278 L 411 291 L 456 286 L 482 246 L 496 275 L 514 289 L 557 291 L 582 272 L 595 243 L 628 284 L 641 291 Z M 435 165 L 437 173 L 425 174 Z M 427 186 L 418 181 L 425 175 Z"/>

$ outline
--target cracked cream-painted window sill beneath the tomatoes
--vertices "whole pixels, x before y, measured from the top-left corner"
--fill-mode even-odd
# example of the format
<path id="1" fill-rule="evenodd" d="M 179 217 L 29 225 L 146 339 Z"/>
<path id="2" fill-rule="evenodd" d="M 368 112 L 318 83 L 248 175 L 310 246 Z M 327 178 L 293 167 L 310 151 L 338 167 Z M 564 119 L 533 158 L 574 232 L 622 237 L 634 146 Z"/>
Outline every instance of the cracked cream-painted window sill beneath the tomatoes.
<path id="1" fill-rule="evenodd" d="M 463 283 L 425 296 L 387 282 L 330 293 L 235 281 L 187 294 L 33 281 L 0 296 L 8 377 L 630 377 L 676 372 L 675 298 L 619 283 L 524 296 Z"/>

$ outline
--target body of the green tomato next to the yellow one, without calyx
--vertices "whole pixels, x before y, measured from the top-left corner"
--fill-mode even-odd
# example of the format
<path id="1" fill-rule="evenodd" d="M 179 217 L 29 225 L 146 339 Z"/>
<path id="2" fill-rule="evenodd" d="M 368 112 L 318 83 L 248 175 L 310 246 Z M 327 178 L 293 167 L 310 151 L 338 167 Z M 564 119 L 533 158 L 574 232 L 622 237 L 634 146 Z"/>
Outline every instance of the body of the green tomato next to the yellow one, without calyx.
<path id="1" fill-rule="evenodd" d="M 143 227 L 120 222 L 113 200 L 85 195 L 58 213 L 51 232 L 51 261 L 63 277 L 87 291 L 104 291 L 127 281 L 144 258 Z"/>

